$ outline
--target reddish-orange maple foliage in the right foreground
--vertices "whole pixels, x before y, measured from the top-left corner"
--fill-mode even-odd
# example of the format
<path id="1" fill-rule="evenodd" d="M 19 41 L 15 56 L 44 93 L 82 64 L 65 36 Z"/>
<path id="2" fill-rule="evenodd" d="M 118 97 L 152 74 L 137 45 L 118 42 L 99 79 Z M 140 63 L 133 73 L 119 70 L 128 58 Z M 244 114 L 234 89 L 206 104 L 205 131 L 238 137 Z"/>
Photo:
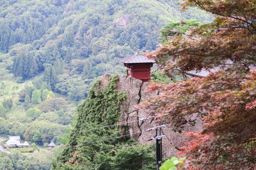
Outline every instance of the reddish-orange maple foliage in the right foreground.
<path id="1" fill-rule="evenodd" d="M 255 2 L 188 0 L 184 8 L 197 6 L 216 15 L 186 36 L 171 39 L 148 54 L 181 73 L 218 67 L 223 71 L 205 78 L 169 84 L 152 84 L 159 90 L 147 108 L 159 121 L 172 122 L 181 131 L 188 115 L 203 117 L 204 131 L 180 148 L 189 169 L 253 169 L 256 131 Z M 160 98 L 159 98 L 160 97 Z"/>

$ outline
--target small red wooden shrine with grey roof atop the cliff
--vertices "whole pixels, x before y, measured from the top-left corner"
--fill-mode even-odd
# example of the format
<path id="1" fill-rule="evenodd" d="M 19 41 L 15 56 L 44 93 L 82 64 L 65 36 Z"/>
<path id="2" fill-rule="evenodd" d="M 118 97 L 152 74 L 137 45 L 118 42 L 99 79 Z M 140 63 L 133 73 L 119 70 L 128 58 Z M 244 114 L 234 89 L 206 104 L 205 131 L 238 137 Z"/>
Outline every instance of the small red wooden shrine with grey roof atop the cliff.
<path id="1" fill-rule="evenodd" d="M 140 50 L 137 50 L 134 55 L 121 59 L 121 62 L 127 67 L 127 76 L 143 82 L 150 81 L 150 68 L 153 66 L 155 60 L 148 59 L 140 53 Z"/>

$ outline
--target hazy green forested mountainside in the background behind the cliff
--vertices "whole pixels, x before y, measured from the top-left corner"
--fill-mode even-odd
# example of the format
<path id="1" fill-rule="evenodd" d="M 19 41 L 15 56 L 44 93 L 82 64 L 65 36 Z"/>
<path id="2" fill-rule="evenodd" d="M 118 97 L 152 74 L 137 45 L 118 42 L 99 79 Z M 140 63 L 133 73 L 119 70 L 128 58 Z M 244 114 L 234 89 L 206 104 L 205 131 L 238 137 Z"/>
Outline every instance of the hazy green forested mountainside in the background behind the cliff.
<path id="1" fill-rule="evenodd" d="M 1 164 L 12 159 L 15 168 L 15 161 L 33 158 L 49 169 L 55 150 L 49 152 L 40 146 L 51 141 L 65 143 L 66 139 L 59 136 L 75 124 L 72 117 L 77 117 L 77 103 L 90 96 L 88 91 L 97 77 L 104 73 L 124 74 L 119 59 L 137 49 L 154 50 L 159 43 L 159 30 L 170 21 L 212 20 L 200 10 L 181 11 L 177 3 L 178 0 L 2 0 L 0 136 L 20 136 L 34 143 L 40 152 L 19 159 L 1 155 Z M 147 150 L 141 148 L 141 152 Z M 118 162 L 117 157 L 111 159 Z"/>

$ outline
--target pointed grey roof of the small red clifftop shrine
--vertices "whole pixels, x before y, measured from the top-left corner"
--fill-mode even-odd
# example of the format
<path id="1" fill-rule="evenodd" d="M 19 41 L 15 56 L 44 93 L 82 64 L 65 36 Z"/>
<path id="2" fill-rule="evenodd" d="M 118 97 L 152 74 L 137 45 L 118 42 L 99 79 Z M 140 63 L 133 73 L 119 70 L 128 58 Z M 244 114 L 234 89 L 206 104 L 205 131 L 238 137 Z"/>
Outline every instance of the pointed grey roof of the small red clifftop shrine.
<path id="1" fill-rule="evenodd" d="M 124 62 L 124 64 L 134 64 L 134 63 L 154 63 L 155 60 L 148 59 L 144 55 L 140 53 L 140 50 L 138 50 L 134 55 L 130 55 L 128 57 L 125 57 L 124 59 L 120 59 L 121 62 Z"/>

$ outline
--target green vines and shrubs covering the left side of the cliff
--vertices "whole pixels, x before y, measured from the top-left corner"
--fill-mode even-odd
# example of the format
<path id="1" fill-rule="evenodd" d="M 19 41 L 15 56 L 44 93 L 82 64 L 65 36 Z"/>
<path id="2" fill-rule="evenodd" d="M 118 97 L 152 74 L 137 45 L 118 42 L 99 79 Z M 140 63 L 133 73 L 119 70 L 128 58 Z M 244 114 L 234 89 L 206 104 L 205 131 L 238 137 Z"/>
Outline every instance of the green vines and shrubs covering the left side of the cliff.
<path id="1" fill-rule="evenodd" d="M 94 83 L 88 97 L 77 108 L 76 125 L 69 134 L 67 147 L 54 162 L 54 169 L 120 169 L 122 166 L 127 169 L 151 169 L 150 165 L 154 162 L 152 147 L 137 145 L 128 137 L 116 138 L 124 135 L 115 124 L 120 116 L 120 106 L 126 99 L 124 92 L 115 90 L 117 80 L 118 76 L 110 76 L 105 87 L 100 81 Z M 104 125 L 113 126 L 97 129 Z M 86 129 L 95 131 L 84 131 Z M 116 146 L 119 149 L 115 149 Z M 60 162 L 69 162 L 71 166 Z"/>

